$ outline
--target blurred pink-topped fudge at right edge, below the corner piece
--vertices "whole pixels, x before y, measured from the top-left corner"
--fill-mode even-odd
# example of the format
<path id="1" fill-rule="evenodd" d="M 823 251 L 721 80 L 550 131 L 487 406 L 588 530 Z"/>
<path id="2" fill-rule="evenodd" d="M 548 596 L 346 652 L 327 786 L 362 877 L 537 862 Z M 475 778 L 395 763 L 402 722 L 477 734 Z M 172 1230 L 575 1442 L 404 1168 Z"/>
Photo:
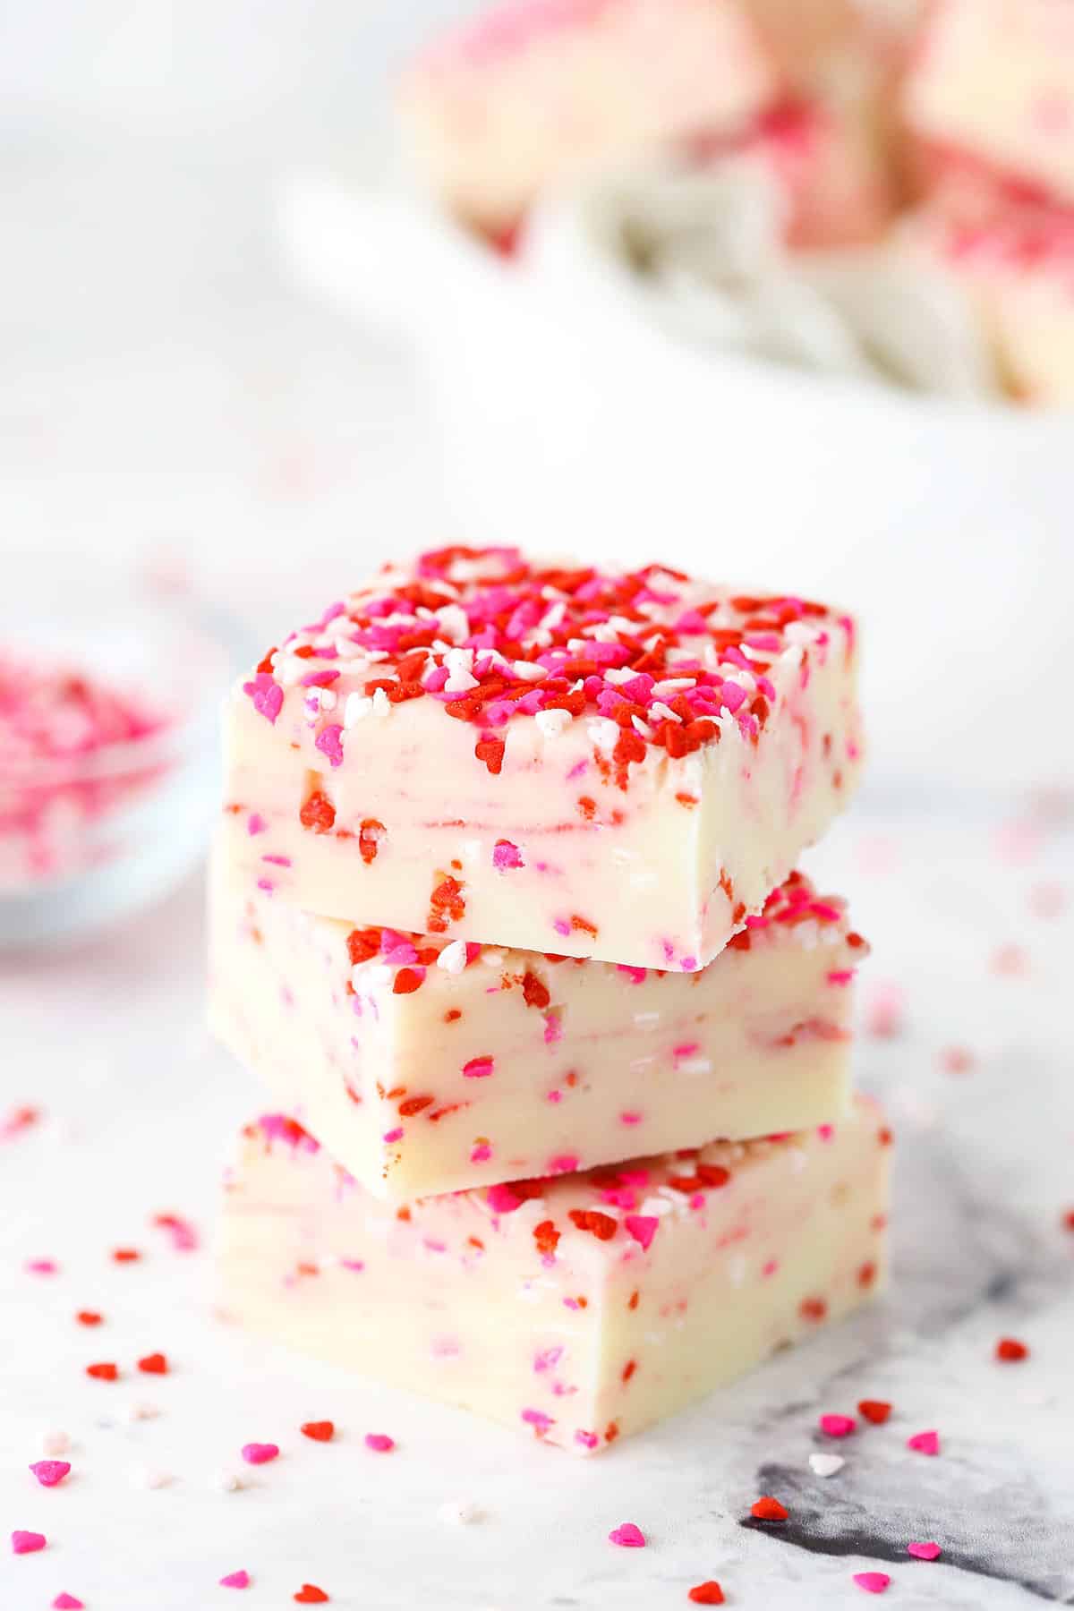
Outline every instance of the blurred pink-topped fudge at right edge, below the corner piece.
<path id="1" fill-rule="evenodd" d="M 907 238 L 966 290 L 1011 396 L 1074 408 L 1074 214 L 1022 208 L 961 222 L 932 208 Z"/>

